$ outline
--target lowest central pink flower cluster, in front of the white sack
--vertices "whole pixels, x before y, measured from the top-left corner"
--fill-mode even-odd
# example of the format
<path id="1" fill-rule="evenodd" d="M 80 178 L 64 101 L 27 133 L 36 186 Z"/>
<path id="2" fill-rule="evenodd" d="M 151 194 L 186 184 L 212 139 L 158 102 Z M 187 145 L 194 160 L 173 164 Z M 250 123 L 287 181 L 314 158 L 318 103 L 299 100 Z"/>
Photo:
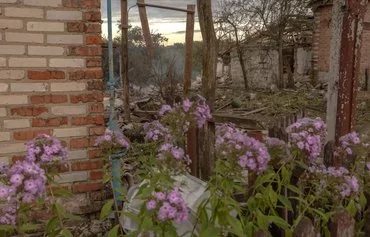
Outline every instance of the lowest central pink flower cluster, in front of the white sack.
<path id="1" fill-rule="evenodd" d="M 168 193 L 156 192 L 146 203 L 146 208 L 156 214 L 159 222 L 175 221 L 181 224 L 189 219 L 188 206 L 178 188 Z"/>

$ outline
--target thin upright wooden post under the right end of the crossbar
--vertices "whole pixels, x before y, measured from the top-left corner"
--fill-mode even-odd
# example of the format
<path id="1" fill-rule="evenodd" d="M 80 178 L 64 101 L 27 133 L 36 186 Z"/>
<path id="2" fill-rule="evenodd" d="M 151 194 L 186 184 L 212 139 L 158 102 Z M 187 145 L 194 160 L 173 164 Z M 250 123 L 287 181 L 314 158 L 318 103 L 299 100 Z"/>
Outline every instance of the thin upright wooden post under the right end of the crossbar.
<path id="1" fill-rule="evenodd" d="M 188 5 L 185 39 L 184 97 L 189 95 L 192 78 L 193 41 L 194 41 L 194 11 L 195 5 Z"/>

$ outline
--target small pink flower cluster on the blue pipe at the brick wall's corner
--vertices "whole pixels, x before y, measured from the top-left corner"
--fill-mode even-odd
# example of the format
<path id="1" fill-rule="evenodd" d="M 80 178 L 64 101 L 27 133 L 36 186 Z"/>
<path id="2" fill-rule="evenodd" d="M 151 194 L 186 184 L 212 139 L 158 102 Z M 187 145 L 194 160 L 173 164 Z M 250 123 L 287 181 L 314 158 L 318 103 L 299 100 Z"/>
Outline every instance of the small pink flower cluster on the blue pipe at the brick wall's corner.
<path id="1" fill-rule="evenodd" d="M 96 138 L 95 146 L 119 150 L 129 148 L 130 144 L 120 131 L 106 129 L 104 135 Z"/>

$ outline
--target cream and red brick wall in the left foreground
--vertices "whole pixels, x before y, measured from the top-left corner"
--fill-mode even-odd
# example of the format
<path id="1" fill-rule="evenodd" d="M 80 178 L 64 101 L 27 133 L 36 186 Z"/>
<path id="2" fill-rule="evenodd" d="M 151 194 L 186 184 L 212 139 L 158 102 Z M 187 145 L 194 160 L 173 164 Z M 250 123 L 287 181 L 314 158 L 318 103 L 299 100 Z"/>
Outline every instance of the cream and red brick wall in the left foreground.
<path id="1" fill-rule="evenodd" d="M 37 134 L 61 139 L 71 161 L 58 181 L 84 205 L 103 188 L 100 34 L 100 0 L 0 0 L 0 161 Z"/>

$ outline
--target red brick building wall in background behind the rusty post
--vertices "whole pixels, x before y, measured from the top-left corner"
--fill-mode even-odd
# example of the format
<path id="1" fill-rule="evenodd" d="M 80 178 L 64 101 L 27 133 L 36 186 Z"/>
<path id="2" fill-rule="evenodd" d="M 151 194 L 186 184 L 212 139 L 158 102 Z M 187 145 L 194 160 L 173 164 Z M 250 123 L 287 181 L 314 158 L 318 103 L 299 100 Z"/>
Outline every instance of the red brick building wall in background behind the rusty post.
<path id="1" fill-rule="evenodd" d="M 314 74 L 319 81 L 328 80 L 330 42 L 332 38 L 331 15 L 332 5 L 321 6 L 315 11 L 313 67 Z M 365 69 L 370 68 L 370 5 L 367 7 L 363 26 L 361 80 L 364 79 Z"/>

